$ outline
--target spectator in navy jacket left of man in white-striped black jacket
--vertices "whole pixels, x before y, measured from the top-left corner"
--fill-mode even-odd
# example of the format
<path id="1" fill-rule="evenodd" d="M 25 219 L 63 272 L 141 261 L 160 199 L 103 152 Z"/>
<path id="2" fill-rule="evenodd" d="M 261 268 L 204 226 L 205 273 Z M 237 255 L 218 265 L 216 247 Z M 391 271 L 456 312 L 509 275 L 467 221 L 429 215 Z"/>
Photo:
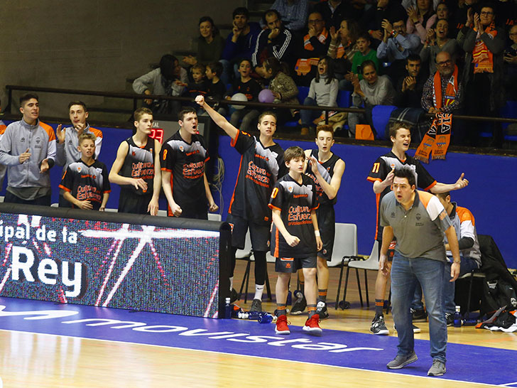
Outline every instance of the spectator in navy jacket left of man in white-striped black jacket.
<path id="1" fill-rule="evenodd" d="M 233 13 L 232 32 L 228 34 L 221 63 L 223 72 L 221 77 L 224 85 L 228 85 L 236 77 L 239 77 L 241 59 L 251 60 L 256 45 L 256 38 L 261 32 L 261 26 L 255 21 L 249 21 L 249 12 L 245 7 L 237 7 Z M 232 68 L 234 71 L 232 72 Z"/>

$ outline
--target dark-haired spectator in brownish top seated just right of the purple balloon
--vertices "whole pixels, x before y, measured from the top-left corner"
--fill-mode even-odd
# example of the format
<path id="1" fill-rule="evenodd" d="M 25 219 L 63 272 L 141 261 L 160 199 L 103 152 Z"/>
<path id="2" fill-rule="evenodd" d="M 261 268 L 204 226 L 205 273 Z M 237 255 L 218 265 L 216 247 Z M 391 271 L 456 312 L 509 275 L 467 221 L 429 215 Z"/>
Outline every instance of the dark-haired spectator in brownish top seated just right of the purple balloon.
<path id="1" fill-rule="evenodd" d="M 288 70 L 283 68 L 275 57 L 264 60 L 264 74 L 269 79 L 269 90 L 273 92 L 276 103 L 298 105 L 298 87 L 293 78 L 289 77 Z M 284 66 L 285 67 L 285 66 Z M 277 125 L 284 124 L 293 119 L 295 109 L 274 109 L 277 117 Z"/>

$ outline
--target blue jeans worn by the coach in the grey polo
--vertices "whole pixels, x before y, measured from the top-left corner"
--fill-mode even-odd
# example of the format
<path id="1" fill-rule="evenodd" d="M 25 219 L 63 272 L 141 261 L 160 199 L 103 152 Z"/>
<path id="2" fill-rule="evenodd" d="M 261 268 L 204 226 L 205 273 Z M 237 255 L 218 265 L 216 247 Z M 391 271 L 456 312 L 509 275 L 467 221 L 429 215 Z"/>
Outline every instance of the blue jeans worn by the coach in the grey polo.
<path id="1" fill-rule="evenodd" d="M 445 362 L 447 324 L 442 303 L 445 262 L 417 257 L 408 259 L 395 252 L 391 265 L 391 306 L 397 328 L 398 355 L 407 356 L 415 348 L 410 306 L 417 281 L 422 285 L 428 308 L 431 357 Z"/>

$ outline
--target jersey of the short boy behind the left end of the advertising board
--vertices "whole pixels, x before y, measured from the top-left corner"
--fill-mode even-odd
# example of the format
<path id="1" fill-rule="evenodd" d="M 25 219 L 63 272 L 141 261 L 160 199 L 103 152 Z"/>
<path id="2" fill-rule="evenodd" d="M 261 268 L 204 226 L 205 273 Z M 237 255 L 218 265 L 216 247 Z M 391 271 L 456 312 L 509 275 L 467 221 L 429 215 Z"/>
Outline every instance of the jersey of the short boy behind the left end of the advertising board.
<path id="1" fill-rule="evenodd" d="M 94 161 L 88 166 L 80 159 L 68 165 L 59 188 L 69 192 L 77 200 L 89 200 L 93 210 L 99 210 L 103 194 L 111 193 L 108 169 L 100 161 Z"/>

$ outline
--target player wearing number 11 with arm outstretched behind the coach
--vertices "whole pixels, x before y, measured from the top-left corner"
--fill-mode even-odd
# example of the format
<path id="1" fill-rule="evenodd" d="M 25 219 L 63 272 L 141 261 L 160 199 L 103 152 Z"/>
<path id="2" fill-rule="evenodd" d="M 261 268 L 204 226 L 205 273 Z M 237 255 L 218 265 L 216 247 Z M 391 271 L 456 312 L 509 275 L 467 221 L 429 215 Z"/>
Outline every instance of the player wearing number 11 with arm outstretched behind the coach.
<path id="1" fill-rule="evenodd" d="M 390 139 L 393 143 L 391 151 L 386 155 L 380 156 L 371 168 L 368 176 L 368 180 L 374 183 L 374 193 L 376 194 L 377 203 L 377 229 L 375 238 L 379 241 L 379 249 L 382 245 L 382 227 L 379 223 L 379 205 L 381 200 L 391 191 L 391 184 L 393 183 L 393 171 L 396 168 L 410 168 L 415 174 L 415 180 L 417 186 L 425 191 L 431 193 L 445 193 L 446 191 L 459 190 L 469 184 L 467 179 L 464 179 L 464 174 L 458 178 L 456 183 L 445 184 L 437 183 L 435 178 L 430 176 L 427 170 L 422 166 L 420 161 L 416 160 L 412 156 L 409 156 L 406 151 L 409 149 L 411 141 L 411 132 L 408 129 L 407 124 L 401 122 L 394 122 L 390 126 Z M 390 249 L 393 249 L 394 244 L 390 245 Z M 391 259 L 391 257 L 389 258 Z M 388 281 L 388 275 L 391 269 L 391 261 L 386 263 L 386 273 L 383 271 L 377 272 L 377 279 L 375 281 L 375 317 L 371 321 L 371 333 L 376 335 L 388 335 L 389 330 L 386 328 L 383 316 L 383 305 L 384 295 L 386 293 L 386 283 Z M 418 286 L 417 286 L 418 287 Z M 413 329 L 420 330 L 416 326 Z"/>

